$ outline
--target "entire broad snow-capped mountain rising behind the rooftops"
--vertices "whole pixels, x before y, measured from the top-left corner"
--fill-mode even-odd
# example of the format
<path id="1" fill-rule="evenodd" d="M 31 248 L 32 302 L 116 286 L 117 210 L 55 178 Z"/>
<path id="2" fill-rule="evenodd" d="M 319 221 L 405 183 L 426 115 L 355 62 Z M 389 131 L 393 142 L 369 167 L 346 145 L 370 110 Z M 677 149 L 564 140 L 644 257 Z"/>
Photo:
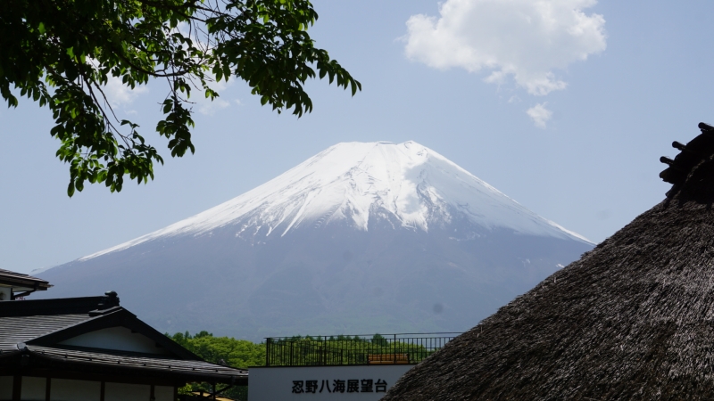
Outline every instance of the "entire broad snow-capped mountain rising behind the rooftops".
<path id="1" fill-rule="evenodd" d="M 419 143 L 338 143 L 266 184 L 40 275 L 161 331 L 249 340 L 464 331 L 593 243 Z"/>

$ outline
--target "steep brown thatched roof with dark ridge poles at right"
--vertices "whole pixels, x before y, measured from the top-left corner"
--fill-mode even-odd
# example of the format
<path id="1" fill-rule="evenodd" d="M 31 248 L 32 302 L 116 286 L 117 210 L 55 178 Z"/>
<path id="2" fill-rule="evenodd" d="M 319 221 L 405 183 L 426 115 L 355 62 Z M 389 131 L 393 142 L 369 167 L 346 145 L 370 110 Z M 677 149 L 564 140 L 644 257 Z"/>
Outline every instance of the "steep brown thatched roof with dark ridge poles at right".
<path id="1" fill-rule="evenodd" d="M 700 127 L 704 145 L 682 148 L 691 166 L 663 160 L 675 184 L 665 201 L 452 340 L 383 400 L 714 399 L 714 134 Z"/>

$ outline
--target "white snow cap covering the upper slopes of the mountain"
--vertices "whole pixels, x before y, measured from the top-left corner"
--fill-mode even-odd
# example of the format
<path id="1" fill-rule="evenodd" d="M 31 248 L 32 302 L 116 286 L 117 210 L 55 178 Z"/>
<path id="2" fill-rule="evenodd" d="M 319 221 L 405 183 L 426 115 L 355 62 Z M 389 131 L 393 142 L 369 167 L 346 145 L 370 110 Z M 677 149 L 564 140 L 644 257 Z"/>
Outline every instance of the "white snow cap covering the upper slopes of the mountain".
<path id="1" fill-rule="evenodd" d="M 428 232 L 467 217 L 486 229 L 577 239 L 436 151 L 415 142 L 337 143 L 266 184 L 215 208 L 81 260 L 160 237 L 236 225 L 241 238 L 284 236 L 299 227 L 346 224 L 369 231 L 369 217 Z"/>

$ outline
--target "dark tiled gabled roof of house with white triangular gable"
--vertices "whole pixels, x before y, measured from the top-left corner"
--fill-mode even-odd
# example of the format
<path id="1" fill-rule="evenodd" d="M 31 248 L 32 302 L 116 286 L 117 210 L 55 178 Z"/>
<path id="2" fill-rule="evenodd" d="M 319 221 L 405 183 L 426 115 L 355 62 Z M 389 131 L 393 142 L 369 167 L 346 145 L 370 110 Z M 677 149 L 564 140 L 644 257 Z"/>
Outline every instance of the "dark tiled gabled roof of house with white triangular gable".
<path id="1" fill-rule="evenodd" d="M 155 331 L 107 297 L 40 299 L 0 303 L 0 370 L 32 359 L 37 368 L 73 372 L 154 375 L 179 381 L 246 384 L 248 373 L 211 364 Z M 154 340 L 169 355 L 62 346 L 80 334 L 122 326 Z"/>

